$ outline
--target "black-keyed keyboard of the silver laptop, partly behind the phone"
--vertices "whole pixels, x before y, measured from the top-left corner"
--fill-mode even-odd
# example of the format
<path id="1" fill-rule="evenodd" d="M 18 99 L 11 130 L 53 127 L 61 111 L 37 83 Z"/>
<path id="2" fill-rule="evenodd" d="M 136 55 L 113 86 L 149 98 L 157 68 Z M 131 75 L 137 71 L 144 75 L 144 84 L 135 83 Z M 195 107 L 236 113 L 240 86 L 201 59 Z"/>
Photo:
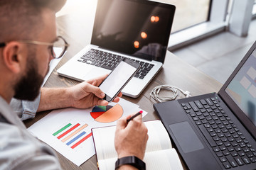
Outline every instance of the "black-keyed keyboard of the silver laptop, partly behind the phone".
<path id="1" fill-rule="evenodd" d="M 86 64 L 95 65 L 96 67 L 102 67 L 112 70 L 114 69 L 114 67 L 117 66 L 122 58 L 122 56 L 114 55 L 110 52 L 103 52 L 100 50 L 91 49 L 86 52 L 85 55 L 82 55 L 78 62 L 83 62 Z M 144 79 L 146 74 L 148 74 L 149 71 L 154 67 L 154 64 L 150 64 L 148 62 L 142 62 L 134 59 L 132 60 L 142 66 L 141 69 L 139 69 L 139 71 L 134 75 L 134 77 L 137 77 L 139 79 Z"/>

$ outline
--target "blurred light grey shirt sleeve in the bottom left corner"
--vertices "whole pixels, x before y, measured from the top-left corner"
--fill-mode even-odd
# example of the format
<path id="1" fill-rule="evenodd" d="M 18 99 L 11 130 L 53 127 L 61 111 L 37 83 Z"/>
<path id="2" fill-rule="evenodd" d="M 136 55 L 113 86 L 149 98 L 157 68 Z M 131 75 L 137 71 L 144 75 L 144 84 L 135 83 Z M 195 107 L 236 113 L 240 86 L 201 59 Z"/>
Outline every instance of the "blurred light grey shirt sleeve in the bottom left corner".
<path id="1" fill-rule="evenodd" d="M 0 123 L 0 169 L 61 169 L 53 149 L 23 128 Z"/>

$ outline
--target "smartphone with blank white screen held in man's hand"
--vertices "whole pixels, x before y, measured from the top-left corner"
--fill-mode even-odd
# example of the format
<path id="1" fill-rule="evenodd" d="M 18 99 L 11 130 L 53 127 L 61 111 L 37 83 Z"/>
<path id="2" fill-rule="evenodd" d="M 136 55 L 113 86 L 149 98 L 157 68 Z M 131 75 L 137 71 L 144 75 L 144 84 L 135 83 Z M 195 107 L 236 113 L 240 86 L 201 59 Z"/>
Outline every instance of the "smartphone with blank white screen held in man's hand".
<path id="1" fill-rule="evenodd" d="M 105 93 L 105 98 L 103 99 L 108 102 L 113 101 L 140 67 L 137 62 L 123 58 L 99 86 Z"/>

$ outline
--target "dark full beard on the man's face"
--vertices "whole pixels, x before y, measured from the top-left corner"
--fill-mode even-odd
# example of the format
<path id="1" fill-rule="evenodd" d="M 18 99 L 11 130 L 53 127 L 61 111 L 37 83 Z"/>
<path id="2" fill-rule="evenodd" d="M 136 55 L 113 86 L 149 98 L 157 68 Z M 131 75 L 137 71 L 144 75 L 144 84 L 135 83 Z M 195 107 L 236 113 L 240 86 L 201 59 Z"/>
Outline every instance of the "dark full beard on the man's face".
<path id="1" fill-rule="evenodd" d="M 38 73 L 38 64 L 36 62 L 36 55 L 28 55 L 27 71 L 21 77 L 18 83 L 14 86 L 14 98 L 21 100 L 33 101 L 39 94 L 43 77 Z"/>

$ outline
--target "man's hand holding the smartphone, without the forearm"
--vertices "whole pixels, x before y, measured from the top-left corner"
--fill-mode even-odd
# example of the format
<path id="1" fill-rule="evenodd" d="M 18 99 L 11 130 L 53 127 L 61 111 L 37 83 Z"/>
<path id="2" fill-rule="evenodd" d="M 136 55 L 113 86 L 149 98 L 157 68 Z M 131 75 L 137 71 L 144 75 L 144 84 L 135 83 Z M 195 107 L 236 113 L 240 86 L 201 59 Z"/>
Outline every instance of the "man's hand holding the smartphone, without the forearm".
<path id="1" fill-rule="evenodd" d="M 108 102 L 102 100 L 105 94 L 98 88 L 102 81 L 106 79 L 107 74 L 96 79 L 82 82 L 76 86 L 68 89 L 70 94 L 70 103 L 74 108 L 90 108 L 92 106 L 100 105 L 107 106 Z M 122 93 L 118 94 L 121 97 Z M 119 98 L 114 98 L 113 102 L 118 102 Z"/>

